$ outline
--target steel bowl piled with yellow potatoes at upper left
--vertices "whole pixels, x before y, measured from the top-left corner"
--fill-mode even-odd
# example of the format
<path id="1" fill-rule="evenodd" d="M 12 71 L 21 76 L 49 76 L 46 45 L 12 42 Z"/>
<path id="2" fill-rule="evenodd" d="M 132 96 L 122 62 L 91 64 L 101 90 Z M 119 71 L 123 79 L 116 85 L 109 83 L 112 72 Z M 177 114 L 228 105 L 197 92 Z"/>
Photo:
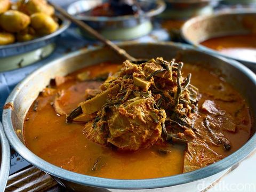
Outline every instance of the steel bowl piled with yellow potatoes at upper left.
<path id="1" fill-rule="evenodd" d="M 6 59 L 22 67 L 49 55 L 69 25 L 45 0 L 0 0 L 0 70 L 13 68 L 4 67 Z M 38 50 L 42 54 L 35 54 Z"/>

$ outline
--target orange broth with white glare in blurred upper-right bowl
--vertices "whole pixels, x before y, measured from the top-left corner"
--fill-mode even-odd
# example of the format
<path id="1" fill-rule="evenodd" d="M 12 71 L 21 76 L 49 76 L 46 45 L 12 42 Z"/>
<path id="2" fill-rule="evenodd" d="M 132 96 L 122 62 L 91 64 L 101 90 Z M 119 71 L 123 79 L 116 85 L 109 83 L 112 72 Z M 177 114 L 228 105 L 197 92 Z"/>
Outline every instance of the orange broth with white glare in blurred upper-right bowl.
<path id="1" fill-rule="evenodd" d="M 201 44 L 230 57 L 256 61 L 256 34 L 211 38 Z"/>

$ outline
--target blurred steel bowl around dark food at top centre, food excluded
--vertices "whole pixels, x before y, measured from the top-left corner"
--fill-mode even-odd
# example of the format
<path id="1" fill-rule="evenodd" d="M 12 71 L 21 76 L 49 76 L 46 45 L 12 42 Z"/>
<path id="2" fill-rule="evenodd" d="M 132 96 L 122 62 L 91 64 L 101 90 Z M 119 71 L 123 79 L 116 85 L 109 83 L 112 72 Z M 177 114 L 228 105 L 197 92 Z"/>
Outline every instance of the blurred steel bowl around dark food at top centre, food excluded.
<path id="1" fill-rule="evenodd" d="M 111 40 L 125 40 L 147 35 L 153 29 L 150 19 L 162 13 L 165 9 L 163 0 L 138 0 L 137 3 L 147 10 L 142 14 L 122 15 L 118 17 L 95 17 L 81 14 L 105 2 L 107 0 L 77 1 L 71 3 L 67 11 L 77 19 L 97 29 L 106 38 Z M 84 33 L 84 31 L 81 32 L 86 37 L 93 38 L 89 34 Z"/>

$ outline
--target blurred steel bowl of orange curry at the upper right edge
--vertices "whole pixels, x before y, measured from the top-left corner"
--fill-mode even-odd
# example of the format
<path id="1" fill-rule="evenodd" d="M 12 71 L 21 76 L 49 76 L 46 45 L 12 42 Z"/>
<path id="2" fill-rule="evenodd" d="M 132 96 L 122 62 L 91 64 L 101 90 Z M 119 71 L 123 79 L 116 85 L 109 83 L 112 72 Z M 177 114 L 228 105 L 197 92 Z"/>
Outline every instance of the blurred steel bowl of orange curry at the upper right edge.
<path id="1" fill-rule="evenodd" d="M 247 67 L 252 70 L 256 70 L 256 43 L 255 41 L 246 41 L 243 36 L 251 35 L 256 38 L 256 13 L 254 11 L 234 11 L 234 12 L 219 12 L 214 15 L 207 16 L 199 16 L 196 18 L 192 18 L 188 20 L 181 29 L 182 38 L 185 39 L 190 44 L 195 45 L 202 51 L 207 53 L 211 53 L 214 55 L 221 55 L 226 58 L 235 59 L 237 61 L 242 62 Z M 247 53 L 243 51 L 241 57 L 241 51 L 237 50 L 234 54 L 222 53 L 221 50 L 211 49 L 201 43 L 205 43 L 207 41 L 212 40 L 212 44 L 214 42 L 214 38 L 221 37 L 222 44 L 219 43 L 219 48 L 223 45 L 223 41 L 225 38 L 233 36 L 233 42 L 237 42 L 236 44 L 241 44 L 242 48 L 250 48 L 254 50 L 254 52 Z M 237 36 L 237 37 L 236 37 Z M 241 37 L 242 36 L 242 37 Z M 253 38 L 253 37 L 251 37 Z M 229 40 L 230 42 L 231 40 Z M 247 44 L 244 46 L 243 44 Z M 227 44 L 227 43 L 225 43 Z M 238 46 L 239 47 L 239 46 Z M 234 47 L 236 48 L 236 47 Z M 250 50 L 249 50 L 250 51 Z M 239 54 L 238 54 L 239 52 Z M 240 57 L 239 57 L 240 55 Z M 246 55 L 246 56 L 244 56 Z M 251 59 L 250 59 L 251 58 Z"/>

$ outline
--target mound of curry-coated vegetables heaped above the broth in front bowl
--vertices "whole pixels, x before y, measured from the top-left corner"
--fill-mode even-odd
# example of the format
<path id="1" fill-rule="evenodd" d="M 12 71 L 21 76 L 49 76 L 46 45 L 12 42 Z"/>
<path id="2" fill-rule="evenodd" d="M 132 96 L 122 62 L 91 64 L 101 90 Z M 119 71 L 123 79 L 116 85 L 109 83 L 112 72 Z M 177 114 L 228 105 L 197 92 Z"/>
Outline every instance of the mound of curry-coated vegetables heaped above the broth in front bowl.
<path id="1" fill-rule="evenodd" d="M 193 116 L 197 93 L 183 63 L 151 59 L 140 65 L 125 61 L 101 85 L 101 92 L 80 103 L 67 122 L 86 122 L 90 140 L 119 150 L 138 150 L 155 143 L 189 142 L 195 138 Z"/>

